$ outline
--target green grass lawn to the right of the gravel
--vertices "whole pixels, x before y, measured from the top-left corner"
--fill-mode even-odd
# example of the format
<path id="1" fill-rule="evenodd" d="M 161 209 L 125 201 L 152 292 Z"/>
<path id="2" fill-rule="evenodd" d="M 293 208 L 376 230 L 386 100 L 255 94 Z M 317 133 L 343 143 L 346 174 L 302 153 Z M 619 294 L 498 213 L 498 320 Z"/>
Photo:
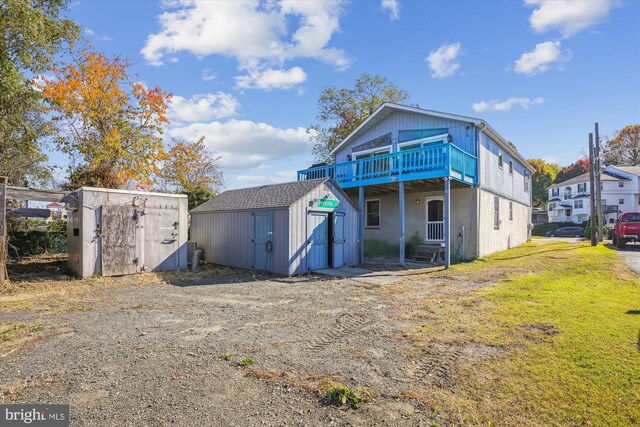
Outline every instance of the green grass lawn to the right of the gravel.
<path id="1" fill-rule="evenodd" d="M 505 350 L 426 399 L 449 422 L 640 424 L 640 280 L 614 250 L 536 242 L 441 274 L 497 283 L 452 295 L 425 336 Z"/>

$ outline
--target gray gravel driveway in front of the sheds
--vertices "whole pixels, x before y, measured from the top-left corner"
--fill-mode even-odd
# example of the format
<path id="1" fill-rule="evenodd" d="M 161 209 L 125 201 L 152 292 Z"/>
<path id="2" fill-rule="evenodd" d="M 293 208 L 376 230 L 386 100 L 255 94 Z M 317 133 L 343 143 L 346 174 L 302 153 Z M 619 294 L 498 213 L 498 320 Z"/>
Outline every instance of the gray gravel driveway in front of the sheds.
<path id="1" fill-rule="evenodd" d="M 437 281 L 176 277 L 96 289 L 89 307 L 0 312 L 0 324 L 44 326 L 0 358 L 0 396 L 70 403 L 73 425 L 429 425 L 430 410 L 403 396 L 448 387 L 454 363 L 496 354 L 416 345 L 428 321 L 416 301 L 440 292 Z M 375 397 L 358 411 L 324 406 L 318 390 L 331 383 Z"/>

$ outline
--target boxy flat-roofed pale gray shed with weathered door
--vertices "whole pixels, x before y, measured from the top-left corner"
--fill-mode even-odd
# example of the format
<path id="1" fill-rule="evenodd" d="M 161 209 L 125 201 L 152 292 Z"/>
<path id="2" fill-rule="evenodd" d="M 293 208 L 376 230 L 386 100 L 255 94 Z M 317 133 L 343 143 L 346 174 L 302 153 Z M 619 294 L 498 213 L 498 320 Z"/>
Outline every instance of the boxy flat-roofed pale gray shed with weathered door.
<path id="1" fill-rule="evenodd" d="M 76 276 L 187 268 L 187 196 L 82 187 L 63 201 Z"/>

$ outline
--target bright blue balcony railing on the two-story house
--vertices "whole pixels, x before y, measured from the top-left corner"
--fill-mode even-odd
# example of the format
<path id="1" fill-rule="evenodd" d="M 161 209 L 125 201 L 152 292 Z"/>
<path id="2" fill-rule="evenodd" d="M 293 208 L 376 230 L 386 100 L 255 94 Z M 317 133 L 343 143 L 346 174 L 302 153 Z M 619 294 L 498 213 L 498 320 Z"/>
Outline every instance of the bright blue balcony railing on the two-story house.
<path id="1" fill-rule="evenodd" d="M 477 183 L 477 160 L 448 142 L 298 171 L 298 181 L 333 178 L 342 188 L 448 177 Z"/>

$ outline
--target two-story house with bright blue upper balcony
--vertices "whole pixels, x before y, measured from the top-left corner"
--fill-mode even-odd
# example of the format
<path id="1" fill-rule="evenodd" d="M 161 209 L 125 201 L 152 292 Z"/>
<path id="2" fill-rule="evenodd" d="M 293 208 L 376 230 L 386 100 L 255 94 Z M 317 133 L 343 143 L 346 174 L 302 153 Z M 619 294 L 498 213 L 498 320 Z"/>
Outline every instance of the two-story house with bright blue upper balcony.
<path id="1" fill-rule="evenodd" d="M 470 259 L 529 237 L 534 169 L 484 120 L 385 103 L 333 151 L 298 171 L 333 178 L 360 206 L 360 241 L 414 239 Z M 360 257 L 364 256 L 360 245 Z"/>

